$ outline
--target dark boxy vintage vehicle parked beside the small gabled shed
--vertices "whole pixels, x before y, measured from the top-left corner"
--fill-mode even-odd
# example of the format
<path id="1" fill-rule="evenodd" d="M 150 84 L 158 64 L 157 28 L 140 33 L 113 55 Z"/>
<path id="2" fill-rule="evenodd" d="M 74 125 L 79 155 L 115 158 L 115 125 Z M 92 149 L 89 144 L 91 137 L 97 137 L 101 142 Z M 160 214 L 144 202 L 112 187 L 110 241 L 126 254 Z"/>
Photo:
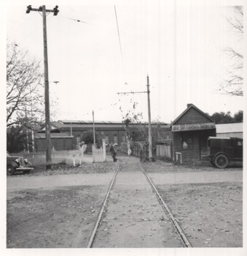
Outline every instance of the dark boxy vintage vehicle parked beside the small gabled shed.
<path id="1" fill-rule="evenodd" d="M 225 168 L 232 162 L 243 162 L 243 138 L 208 138 L 207 156 L 211 165 Z"/>

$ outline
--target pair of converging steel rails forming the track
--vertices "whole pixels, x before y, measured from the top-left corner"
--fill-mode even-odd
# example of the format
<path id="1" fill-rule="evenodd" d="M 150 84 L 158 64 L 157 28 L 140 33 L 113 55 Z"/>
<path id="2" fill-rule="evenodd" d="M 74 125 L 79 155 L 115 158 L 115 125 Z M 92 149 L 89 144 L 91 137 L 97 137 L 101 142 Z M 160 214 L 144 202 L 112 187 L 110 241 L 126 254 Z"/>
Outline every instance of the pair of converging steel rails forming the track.
<path id="1" fill-rule="evenodd" d="M 98 240 L 98 237 L 103 236 L 102 231 L 100 232 L 101 225 L 102 225 L 103 219 L 106 217 L 106 211 L 108 211 L 107 214 L 109 215 L 109 212 L 112 210 L 112 208 L 111 208 L 111 210 L 108 209 L 108 204 L 109 204 L 110 195 L 111 195 L 112 189 L 114 188 L 114 184 L 116 182 L 116 178 L 117 178 L 117 175 L 119 173 L 119 169 L 120 169 L 121 165 L 123 165 L 123 163 L 121 161 L 118 162 L 117 170 L 115 171 L 114 176 L 113 176 L 113 178 L 111 180 L 111 184 L 110 184 L 109 189 L 108 189 L 108 191 L 106 193 L 105 200 L 103 201 L 103 205 L 102 205 L 101 211 L 100 211 L 100 213 L 98 215 L 98 219 L 95 222 L 95 227 L 93 228 L 93 233 L 90 236 L 90 240 L 89 240 L 89 242 L 87 244 L 87 248 L 92 248 L 94 246 L 94 244 L 95 244 L 95 241 Z M 182 244 L 182 246 L 184 246 L 184 247 L 192 247 L 192 245 L 189 243 L 187 237 L 184 235 L 183 231 L 181 230 L 181 227 L 179 227 L 179 223 L 176 221 L 175 217 L 173 217 L 173 214 L 170 212 L 170 209 L 168 208 L 168 206 L 166 205 L 166 203 L 162 199 L 160 193 L 157 191 L 156 187 L 154 186 L 152 180 L 149 178 L 148 174 L 146 173 L 146 170 L 144 170 L 144 167 L 140 163 L 137 164 L 136 167 L 141 169 L 140 171 L 146 177 L 146 181 L 148 181 L 148 184 L 149 184 L 149 191 L 153 191 L 155 197 L 157 197 L 157 200 L 160 203 L 160 206 L 162 207 L 162 210 L 165 212 L 165 215 L 168 217 L 167 219 L 169 219 L 170 224 L 172 225 L 173 229 L 175 230 L 174 233 L 176 233 L 176 236 L 178 237 L 176 239 L 179 239 L 181 241 L 180 244 Z M 143 179 L 145 180 L 144 177 L 143 177 Z M 152 190 L 150 189 L 150 187 L 152 188 Z M 148 195 L 148 197 L 149 197 L 149 195 Z M 114 193 L 112 193 L 112 196 L 114 196 Z M 150 197 L 151 197 L 151 195 L 150 195 Z M 117 198 L 119 198 L 119 197 L 117 197 Z M 155 201 L 156 201 L 156 199 L 155 199 Z M 128 202 L 128 198 L 126 198 L 125 202 Z M 122 206 L 122 207 L 125 207 L 125 206 Z M 161 209 L 161 207 L 160 207 L 160 209 Z M 128 210 L 128 211 L 131 211 L 131 209 Z M 145 211 L 144 211 L 144 214 L 145 214 Z M 121 215 L 121 212 L 118 212 L 116 216 L 118 216 L 118 215 Z M 125 215 L 125 214 L 122 214 L 122 215 Z M 116 218 L 114 218 L 114 219 L 116 219 Z M 125 219 L 125 222 L 128 222 L 128 224 L 129 224 L 130 223 L 130 219 Z M 120 225 L 122 227 L 122 224 L 120 224 Z M 107 230 L 107 229 L 105 228 L 103 230 Z M 155 230 L 155 229 L 152 229 L 152 230 Z M 101 235 L 99 233 L 101 233 Z M 112 236 L 114 236 L 114 235 L 112 235 Z M 96 237 L 97 237 L 97 239 L 96 239 Z M 120 236 L 120 238 L 121 238 L 121 236 Z M 99 238 L 99 239 L 101 239 L 101 238 Z"/>

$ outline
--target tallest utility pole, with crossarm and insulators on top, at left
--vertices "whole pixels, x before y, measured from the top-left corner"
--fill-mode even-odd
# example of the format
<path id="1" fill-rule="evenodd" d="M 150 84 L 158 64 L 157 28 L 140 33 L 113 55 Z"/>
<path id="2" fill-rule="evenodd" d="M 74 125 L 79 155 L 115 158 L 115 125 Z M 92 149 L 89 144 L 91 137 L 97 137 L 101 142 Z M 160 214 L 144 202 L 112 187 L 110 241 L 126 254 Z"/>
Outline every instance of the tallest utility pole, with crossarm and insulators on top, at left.
<path id="1" fill-rule="evenodd" d="M 53 10 L 46 10 L 45 5 L 39 9 L 28 5 L 26 13 L 31 11 L 42 12 L 43 16 L 43 39 L 44 39 L 44 108 L 45 108 L 45 140 L 46 140 L 46 169 L 52 165 L 51 140 L 50 140 L 50 100 L 49 100 L 49 79 L 48 79 L 48 53 L 47 53 L 47 12 L 53 12 L 58 15 L 58 5 Z"/>

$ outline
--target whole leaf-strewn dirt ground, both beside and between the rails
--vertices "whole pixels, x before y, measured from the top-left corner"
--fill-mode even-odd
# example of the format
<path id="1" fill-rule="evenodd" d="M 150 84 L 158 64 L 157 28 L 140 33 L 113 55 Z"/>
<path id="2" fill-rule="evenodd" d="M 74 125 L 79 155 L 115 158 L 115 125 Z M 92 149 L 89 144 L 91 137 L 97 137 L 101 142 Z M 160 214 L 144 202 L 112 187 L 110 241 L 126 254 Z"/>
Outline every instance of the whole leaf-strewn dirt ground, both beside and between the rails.
<path id="1" fill-rule="evenodd" d="M 181 247 L 139 160 L 119 158 L 122 167 L 93 246 Z M 178 170 L 163 162 L 144 168 L 192 246 L 242 246 L 243 170 Z M 113 174 L 7 178 L 7 248 L 86 247 Z"/>

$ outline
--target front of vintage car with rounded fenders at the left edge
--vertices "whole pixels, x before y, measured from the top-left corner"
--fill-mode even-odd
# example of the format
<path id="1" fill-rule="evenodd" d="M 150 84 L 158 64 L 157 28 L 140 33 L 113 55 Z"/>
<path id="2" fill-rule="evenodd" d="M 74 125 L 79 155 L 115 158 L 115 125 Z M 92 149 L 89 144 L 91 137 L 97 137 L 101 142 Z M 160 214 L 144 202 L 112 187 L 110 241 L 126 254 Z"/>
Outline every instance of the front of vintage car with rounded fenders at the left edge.
<path id="1" fill-rule="evenodd" d="M 7 152 L 7 175 L 13 175 L 16 171 L 23 171 L 23 173 L 29 173 L 34 167 L 31 167 L 31 162 L 23 157 L 11 156 Z"/>

